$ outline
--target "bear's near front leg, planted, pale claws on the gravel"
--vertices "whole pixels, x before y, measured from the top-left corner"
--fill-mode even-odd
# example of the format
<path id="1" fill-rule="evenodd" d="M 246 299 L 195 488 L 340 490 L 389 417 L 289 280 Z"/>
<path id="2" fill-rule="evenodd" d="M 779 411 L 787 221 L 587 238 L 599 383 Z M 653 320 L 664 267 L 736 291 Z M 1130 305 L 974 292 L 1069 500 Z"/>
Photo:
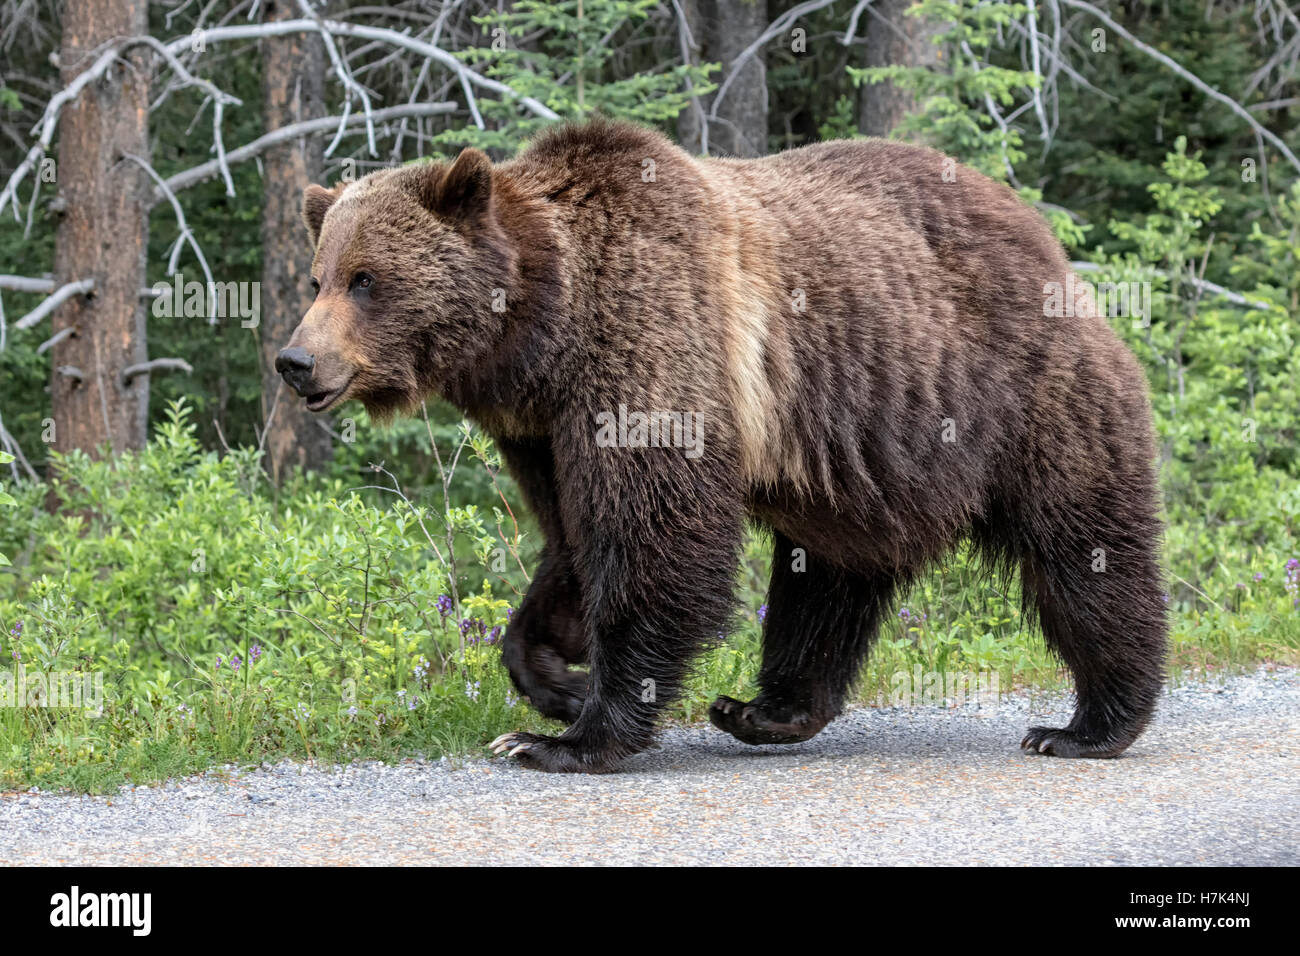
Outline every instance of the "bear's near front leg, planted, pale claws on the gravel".
<path id="1" fill-rule="evenodd" d="M 568 447 L 556 464 L 585 598 L 586 701 L 558 737 L 506 734 L 491 747 L 537 770 L 607 773 L 650 744 L 692 659 L 725 627 L 742 503 L 720 453 L 595 447 L 589 433 Z"/>

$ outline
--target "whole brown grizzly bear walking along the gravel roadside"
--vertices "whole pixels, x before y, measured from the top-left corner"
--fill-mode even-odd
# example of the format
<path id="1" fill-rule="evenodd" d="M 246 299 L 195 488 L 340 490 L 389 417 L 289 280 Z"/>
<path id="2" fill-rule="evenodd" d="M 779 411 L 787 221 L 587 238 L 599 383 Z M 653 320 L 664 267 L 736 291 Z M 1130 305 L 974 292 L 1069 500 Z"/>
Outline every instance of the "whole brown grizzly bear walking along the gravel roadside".
<path id="1" fill-rule="evenodd" d="M 1144 375 L 1041 217 L 932 150 L 697 159 L 597 121 L 307 189 L 317 298 L 276 367 L 324 411 L 439 395 L 486 429 L 545 536 L 506 632 L 569 722 L 493 743 L 554 771 L 650 744 L 728 627 L 746 520 L 772 542 L 759 692 L 710 718 L 807 740 L 892 600 L 963 540 L 1018 570 L 1072 672 L 1066 727 L 1114 757 L 1165 661 Z M 1072 297 L 1071 297 L 1072 298 Z M 577 670 L 572 665 L 585 665 Z"/>

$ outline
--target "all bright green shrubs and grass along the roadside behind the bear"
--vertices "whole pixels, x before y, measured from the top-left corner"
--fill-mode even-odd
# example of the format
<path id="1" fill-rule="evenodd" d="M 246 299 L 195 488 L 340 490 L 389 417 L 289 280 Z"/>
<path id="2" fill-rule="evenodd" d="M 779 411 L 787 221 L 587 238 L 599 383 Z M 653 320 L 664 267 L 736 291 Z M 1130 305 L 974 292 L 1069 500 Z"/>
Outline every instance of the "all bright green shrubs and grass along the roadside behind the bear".
<path id="1" fill-rule="evenodd" d="M 425 493 L 337 477 L 276 492 L 251 453 L 203 451 L 178 407 L 139 454 L 61 459 L 57 514 L 42 506 L 51 488 L 14 489 L 0 523 L 13 559 L 0 568 L 0 678 L 20 666 L 98 676 L 103 710 L 0 706 L 0 788 L 109 791 L 282 757 L 456 757 L 506 731 L 556 732 L 515 698 L 484 640 L 526 589 L 536 533 L 504 507 L 515 493 L 481 436 L 430 427 L 428 438 L 460 447 L 473 471 Z M 456 499 L 463 488 L 476 499 Z M 1300 572 L 1286 567 L 1300 497 L 1273 485 L 1257 499 L 1256 523 L 1170 509 L 1171 682 L 1300 658 Z M 1256 512 L 1244 498 L 1223 507 Z M 767 553 L 749 538 L 732 633 L 671 719 L 702 719 L 718 693 L 753 696 Z M 996 675 L 1001 691 L 1069 685 L 1014 584 L 966 550 L 887 618 L 855 701 L 889 701 L 896 675 L 918 670 Z"/>

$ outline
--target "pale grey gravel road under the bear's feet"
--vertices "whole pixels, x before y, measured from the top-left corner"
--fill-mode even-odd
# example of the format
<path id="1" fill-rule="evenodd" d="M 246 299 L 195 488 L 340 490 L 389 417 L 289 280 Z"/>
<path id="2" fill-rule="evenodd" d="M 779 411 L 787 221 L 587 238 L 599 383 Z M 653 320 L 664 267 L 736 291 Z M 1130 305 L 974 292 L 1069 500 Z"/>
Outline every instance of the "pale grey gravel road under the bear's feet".
<path id="1" fill-rule="evenodd" d="M 1114 761 L 1020 753 L 1067 698 L 859 709 L 750 748 L 672 728 L 621 774 L 506 760 L 218 771 L 0 795 L 6 864 L 1296 865 L 1300 672 L 1171 691 Z"/>

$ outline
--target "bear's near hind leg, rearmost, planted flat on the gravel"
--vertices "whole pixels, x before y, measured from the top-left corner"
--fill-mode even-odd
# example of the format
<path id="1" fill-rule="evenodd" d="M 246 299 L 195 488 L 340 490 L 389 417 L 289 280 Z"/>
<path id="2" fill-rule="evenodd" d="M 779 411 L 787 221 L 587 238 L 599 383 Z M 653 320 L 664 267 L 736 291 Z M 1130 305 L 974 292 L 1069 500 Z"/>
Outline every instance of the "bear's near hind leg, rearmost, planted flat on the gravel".
<path id="1" fill-rule="evenodd" d="M 1115 502 L 1084 531 L 1044 536 L 1023 562 L 1027 601 L 1069 666 L 1076 708 L 1065 727 L 1031 727 L 1020 747 L 1053 757 L 1117 757 L 1147 727 L 1165 679 L 1165 604 L 1153 507 Z M 1096 514 L 1096 512 L 1095 512 Z"/>

